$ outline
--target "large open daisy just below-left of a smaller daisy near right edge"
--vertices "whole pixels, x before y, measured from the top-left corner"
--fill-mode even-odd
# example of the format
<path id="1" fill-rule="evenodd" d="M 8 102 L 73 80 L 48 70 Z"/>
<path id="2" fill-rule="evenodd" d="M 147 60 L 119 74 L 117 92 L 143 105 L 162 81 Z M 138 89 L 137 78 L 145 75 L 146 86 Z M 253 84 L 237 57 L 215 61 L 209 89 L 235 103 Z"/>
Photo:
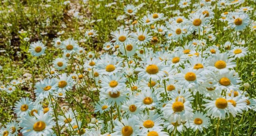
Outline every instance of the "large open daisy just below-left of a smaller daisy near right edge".
<path id="1" fill-rule="evenodd" d="M 207 59 L 207 69 L 217 71 L 221 74 L 225 73 L 228 71 L 228 69 L 236 66 L 236 64 L 232 62 L 233 60 L 234 58 L 228 58 L 226 53 L 213 54 Z"/>

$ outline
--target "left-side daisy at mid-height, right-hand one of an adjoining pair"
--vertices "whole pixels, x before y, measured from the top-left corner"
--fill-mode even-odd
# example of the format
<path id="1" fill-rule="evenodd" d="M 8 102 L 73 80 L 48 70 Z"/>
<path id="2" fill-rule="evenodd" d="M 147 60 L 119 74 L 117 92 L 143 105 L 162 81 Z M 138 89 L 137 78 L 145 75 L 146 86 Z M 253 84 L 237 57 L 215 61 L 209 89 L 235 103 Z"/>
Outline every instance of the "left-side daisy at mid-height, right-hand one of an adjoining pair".
<path id="1" fill-rule="evenodd" d="M 71 75 L 67 77 L 67 73 L 62 73 L 59 75 L 59 79 L 55 79 L 56 83 L 58 84 L 56 90 L 64 90 L 69 91 L 72 89 L 74 80 L 72 79 Z"/>

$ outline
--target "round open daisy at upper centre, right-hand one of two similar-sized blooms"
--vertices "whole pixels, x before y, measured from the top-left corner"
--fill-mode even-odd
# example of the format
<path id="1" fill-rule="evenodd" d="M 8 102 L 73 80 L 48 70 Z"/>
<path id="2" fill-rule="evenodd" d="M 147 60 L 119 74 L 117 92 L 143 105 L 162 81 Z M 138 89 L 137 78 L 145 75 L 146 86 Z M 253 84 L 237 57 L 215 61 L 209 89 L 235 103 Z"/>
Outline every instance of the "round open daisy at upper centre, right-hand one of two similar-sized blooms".
<path id="1" fill-rule="evenodd" d="M 133 37 L 135 43 L 138 45 L 145 45 L 145 44 L 149 43 L 149 41 L 151 41 L 151 39 L 152 39 L 152 36 L 151 36 L 152 33 L 147 33 L 147 32 L 148 32 L 147 29 L 145 29 L 143 31 L 138 28 L 137 33 L 132 34 L 132 37 Z"/>

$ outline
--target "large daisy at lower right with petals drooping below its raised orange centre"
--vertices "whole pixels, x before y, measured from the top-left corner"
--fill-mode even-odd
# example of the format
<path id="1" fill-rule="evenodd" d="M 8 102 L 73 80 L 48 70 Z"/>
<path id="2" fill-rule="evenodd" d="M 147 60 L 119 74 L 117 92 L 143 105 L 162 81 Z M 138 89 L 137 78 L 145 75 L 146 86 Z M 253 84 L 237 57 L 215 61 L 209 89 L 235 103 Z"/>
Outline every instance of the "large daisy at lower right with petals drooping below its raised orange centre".
<path id="1" fill-rule="evenodd" d="M 205 110 L 207 111 L 208 116 L 211 115 L 213 118 L 220 118 L 225 119 L 226 114 L 229 113 L 232 114 L 234 117 L 236 116 L 236 110 L 234 109 L 234 106 L 227 101 L 225 98 L 217 98 L 216 100 L 207 100 L 203 99 L 206 104 L 203 104 L 205 106 Z"/>

